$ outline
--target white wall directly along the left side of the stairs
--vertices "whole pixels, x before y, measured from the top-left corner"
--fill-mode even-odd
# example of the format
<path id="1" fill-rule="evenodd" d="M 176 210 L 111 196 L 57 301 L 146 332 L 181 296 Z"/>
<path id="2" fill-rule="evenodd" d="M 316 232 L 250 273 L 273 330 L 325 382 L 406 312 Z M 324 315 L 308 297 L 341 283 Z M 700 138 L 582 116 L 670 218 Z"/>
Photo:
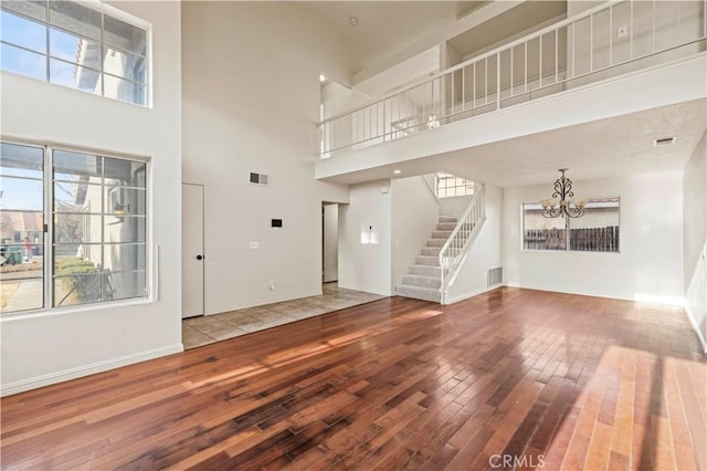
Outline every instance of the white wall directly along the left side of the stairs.
<path id="1" fill-rule="evenodd" d="M 391 181 L 392 291 L 437 226 L 440 203 L 420 176 Z"/>

